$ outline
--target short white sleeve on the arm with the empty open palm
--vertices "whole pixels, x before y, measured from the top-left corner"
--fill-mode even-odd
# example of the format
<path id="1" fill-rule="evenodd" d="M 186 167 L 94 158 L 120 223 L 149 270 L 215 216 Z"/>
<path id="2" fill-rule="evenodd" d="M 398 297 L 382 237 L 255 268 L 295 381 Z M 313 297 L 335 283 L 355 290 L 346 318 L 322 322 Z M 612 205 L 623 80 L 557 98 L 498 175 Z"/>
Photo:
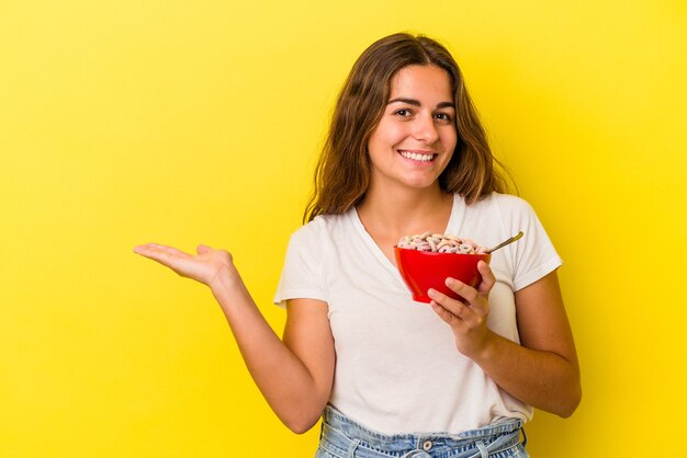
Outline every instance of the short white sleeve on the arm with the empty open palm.
<path id="1" fill-rule="evenodd" d="M 289 240 L 274 294 L 274 304 L 280 307 L 286 307 L 286 300 L 296 298 L 327 300 L 324 256 L 316 226 L 317 221 L 313 221 L 301 227 Z"/>

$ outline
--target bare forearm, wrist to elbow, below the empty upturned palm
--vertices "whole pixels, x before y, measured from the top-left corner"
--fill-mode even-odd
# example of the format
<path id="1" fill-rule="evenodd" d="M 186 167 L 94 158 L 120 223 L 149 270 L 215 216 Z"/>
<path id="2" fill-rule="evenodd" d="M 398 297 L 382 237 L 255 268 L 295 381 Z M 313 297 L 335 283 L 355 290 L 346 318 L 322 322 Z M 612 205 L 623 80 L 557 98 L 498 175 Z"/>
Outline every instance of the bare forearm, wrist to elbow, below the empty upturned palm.
<path id="1" fill-rule="evenodd" d="M 327 387 L 317 386 L 307 367 L 274 333 L 238 274 L 214 282 L 212 291 L 246 367 L 274 413 L 296 433 L 309 430 L 326 405 Z"/>

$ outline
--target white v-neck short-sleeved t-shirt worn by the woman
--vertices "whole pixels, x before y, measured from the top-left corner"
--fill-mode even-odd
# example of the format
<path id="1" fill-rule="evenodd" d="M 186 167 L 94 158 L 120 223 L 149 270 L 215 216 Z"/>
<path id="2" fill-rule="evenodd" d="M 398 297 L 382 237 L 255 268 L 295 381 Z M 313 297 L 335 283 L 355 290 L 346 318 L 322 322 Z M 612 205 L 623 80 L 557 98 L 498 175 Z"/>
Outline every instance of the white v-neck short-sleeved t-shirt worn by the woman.
<path id="1" fill-rule="evenodd" d="M 558 268 L 561 259 L 523 199 L 494 193 L 468 206 L 454 195 L 446 233 L 494 247 L 519 230 L 525 236 L 494 252 L 489 264 L 496 285 L 487 323 L 515 342 L 514 291 Z M 354 208 L 318 216 L 293 233 L 274 302 L 294 298 L 327 302 L 336 347 L 329 402 L 369 428 L 460 433 L 532 415 L 458 352 L 450 327 L 429 305 L 410 298 Z"/>

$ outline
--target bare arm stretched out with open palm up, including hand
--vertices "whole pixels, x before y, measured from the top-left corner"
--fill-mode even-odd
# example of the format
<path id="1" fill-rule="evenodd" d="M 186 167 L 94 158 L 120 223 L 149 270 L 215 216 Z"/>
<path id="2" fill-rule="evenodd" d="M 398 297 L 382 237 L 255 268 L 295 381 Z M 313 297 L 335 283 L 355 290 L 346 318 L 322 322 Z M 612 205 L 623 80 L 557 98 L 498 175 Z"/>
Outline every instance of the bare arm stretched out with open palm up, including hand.
<path id="1" fill-rule="evenodd" d="M 210 286 L 251 377 L 274 413 L 295 433 L 317 423 L 334 379 L 334 339 L 325 302 L 290 301 L 282 341 L 260 313 L 226 251 L 201 245 L 193 256 L 147 244 L 136 247 L 135 252 Z"/>

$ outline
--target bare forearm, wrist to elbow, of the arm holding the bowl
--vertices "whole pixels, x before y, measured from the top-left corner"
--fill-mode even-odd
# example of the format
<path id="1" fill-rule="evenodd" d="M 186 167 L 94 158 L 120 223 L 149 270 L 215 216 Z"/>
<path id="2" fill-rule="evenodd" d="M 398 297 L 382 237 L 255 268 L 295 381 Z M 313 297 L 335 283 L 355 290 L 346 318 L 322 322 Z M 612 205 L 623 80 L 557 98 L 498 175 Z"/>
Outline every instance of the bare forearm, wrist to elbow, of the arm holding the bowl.
<path id="1" fill-rule="evenodd" d="M 579 403 L 576 360 L 527 348 L 496 333 L 473 359 L 502 389 L 537 409 L 566 417 Z"/>

